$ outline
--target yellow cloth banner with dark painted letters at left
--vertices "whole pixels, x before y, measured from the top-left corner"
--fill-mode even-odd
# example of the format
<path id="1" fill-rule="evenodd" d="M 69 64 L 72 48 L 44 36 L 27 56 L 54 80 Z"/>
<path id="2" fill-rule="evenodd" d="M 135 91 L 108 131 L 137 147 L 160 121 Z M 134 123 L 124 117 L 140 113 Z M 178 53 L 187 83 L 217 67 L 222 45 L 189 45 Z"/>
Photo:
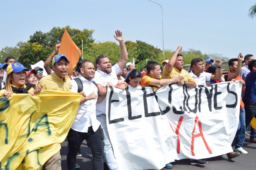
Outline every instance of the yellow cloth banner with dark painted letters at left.
<path id="1" fill-rule="evenodd" d="M 0 97 L 0 169 L 41 169 L 60 150 L 81 97 L 50 90 Z"/>

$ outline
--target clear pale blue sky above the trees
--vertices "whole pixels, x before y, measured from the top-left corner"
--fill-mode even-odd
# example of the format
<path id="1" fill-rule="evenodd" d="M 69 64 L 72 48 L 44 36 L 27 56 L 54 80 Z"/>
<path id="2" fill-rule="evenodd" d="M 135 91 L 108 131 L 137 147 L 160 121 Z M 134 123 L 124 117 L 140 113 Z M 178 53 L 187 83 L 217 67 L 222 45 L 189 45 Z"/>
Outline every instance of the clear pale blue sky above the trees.
<path id="1" fill-rule="evenodd" d="M 155 0 L 164 12 L 164 48 L 182 45 L 225 57 L 255 54 L 256 19 L 248 17 L 256 0 Z M 9 0 L 1 2 L 0 49 L 26 42 L 36 31 L 69 25 L 95 30 L 98 42 L 141 40 L 162 49 L 162 12 L 148 0 Z M 185 56 L 186 57 L 186 56 Z"/>

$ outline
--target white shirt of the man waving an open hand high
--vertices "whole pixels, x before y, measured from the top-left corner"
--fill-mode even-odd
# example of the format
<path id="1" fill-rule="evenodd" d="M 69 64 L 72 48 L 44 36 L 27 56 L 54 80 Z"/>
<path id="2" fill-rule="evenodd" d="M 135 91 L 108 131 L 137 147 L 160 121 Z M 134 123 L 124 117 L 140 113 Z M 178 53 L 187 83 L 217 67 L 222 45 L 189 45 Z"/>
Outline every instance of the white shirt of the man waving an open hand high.
<path id="1" fill-rule="evenodd" d="M 103 71 L 97 69 L 95 71 L 94 81 L 97 84 L 106 86 L 108 82 L 110 82 L 113 86 L 116 86 L 118 83 L 117 76 L 121 71 L 121 68 L 118 64 L 112 66 L 112 72 L 107 74 Z M 106 114 L 106 97 L 102 100 L 102 102 L 96 104 L 96 115 Z"/>

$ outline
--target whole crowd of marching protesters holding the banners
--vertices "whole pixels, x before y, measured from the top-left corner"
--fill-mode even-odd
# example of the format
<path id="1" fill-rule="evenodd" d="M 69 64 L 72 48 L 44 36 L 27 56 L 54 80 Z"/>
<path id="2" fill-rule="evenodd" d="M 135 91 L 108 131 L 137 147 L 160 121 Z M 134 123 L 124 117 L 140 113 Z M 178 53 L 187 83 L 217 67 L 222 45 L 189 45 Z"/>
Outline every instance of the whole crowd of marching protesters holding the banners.
<path id="1" fill-rule="evenodd" d="M 12 94 L 29 93 L 35 95 L 42 89 L 78 92 L 80 99 L 76 118 L 68 132 L 67 164 L 69 170 L 79 168 L 76 156 L 80 154 L 80 146 L 86 140 L 92 149 L 94 169 L 102 170 L 106 162 L 110 170 L 117 170 L 118 164 L 113 153 L 106 125 L 106 93 L 108 87 L 125 89 L 150 86 L 155 91 L 168 83 L 194 88 L 197 85 L 208 85 L 224 81 L 238 80 L 242 83 L 242 97 L 240 99 L 239 125 L 236 133 L 234 152 L 227 153 L 228 159 L 235 158 L 248 152 L 242 148 L 246 130 L 250 121 L 256 115 L 256 59 L 253 55 L 239 53 L 237 58 L 228 61 L 229 73 L 222 75 L 222 61 L 216 59 L 194 58 L 190 64 L 190 71 L 183 69 L 183 56 L 179 53 L 182 46 L 169 60 L 162 62 L 163 68 L 156 61 L 148 61 L 140 72 L 134 69 L 134 63 L 127 62 L 128 55 L 122 32 L 116 30 L 114 38 L 120 44 L 120 59 L 111 64 L 106 55 L 99 55 L 95 61 L 81 59 L 73 75 L 68 75 L 69 60 L 63 54 L 57 54 L 61 44 L 57 44 L 52 54 L 44 62 L 44 69 L 35 67 L 27 69 L 14 57 L 7 57 L 0 64 L 0 96 L 10 97 Z M 94 64 L 96 64 L 96 71 Z M 49 64 L 52 64 L 52 69 Z M 242 63 L 244 66 L 241 68 Z M 47 76 L 42 77 L 46 70 Z M 52 72 L 53 70 L 53 72 Z M 256 131 L 251 128 L 250 142 L 256 143 Z M 56 144 L 60 145 L 60 144 Z M 204 165 L 206 160 L 190 160 L 192 165 Z M 166 164 L 172 168 L 172 164 Z M 60 151 L 52 156 L 43 169 L 61 169 Z"/>

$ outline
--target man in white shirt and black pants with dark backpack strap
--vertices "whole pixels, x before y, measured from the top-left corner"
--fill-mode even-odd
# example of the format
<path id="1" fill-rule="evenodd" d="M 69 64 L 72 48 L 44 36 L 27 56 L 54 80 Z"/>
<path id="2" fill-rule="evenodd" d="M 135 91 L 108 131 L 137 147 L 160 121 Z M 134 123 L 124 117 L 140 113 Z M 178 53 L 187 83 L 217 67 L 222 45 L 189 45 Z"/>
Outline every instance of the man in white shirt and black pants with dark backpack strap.
<path id="1" fill-rule="evenodd" d="M 86 140 L 92 149 L 93 166 L 95 170 L 103 170 L 103 135 L 100 122 L 96 119 L 96 102 L 98 89 L 94 81 L 95 69 L 91 61 L 81 59 L 77 63 L 79 76 L 72 79 L 72 92 L 80 93 L 81 90 L 85 97 L 80 99 L 76 118 L 68 132 L 69 151 L 67 164 L 69 170 L 74 170 L 76 165 L 76 155 L 83 142 Z M 82 88 L 79 89 L 77 81 L 80 81 Z"/>

